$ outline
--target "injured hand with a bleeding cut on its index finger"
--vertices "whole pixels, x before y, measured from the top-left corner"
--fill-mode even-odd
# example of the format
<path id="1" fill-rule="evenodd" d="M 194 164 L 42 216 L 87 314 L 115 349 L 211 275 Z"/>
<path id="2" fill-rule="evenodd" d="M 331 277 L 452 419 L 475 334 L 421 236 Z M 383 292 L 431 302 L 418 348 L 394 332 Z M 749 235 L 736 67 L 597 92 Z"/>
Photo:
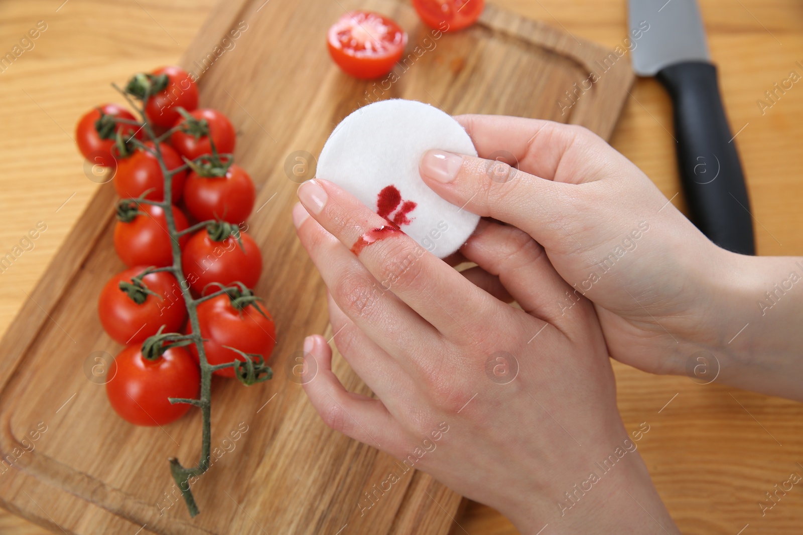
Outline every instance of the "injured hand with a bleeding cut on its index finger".
<path id="1" fill-rule="evenodd" d="M 324 338 L 308 337 L 318 372 L 304 389 L 329 426 L 499 509 L 521 533 L 679 533 L 618 414 L 593 306 L 560 306 L 572 288 L 536 241 L 482 221 L 462 249 L 479 264 L 471 277 L 499 293 L 485 274 L 498 275 L 524 312 L 404 233 L 355 256 L 386 221 L 334 184 L 309 181 L 299 197 L 293 220 L 330 290 L 334 341 L 377 396 L 345 391 Z"/>

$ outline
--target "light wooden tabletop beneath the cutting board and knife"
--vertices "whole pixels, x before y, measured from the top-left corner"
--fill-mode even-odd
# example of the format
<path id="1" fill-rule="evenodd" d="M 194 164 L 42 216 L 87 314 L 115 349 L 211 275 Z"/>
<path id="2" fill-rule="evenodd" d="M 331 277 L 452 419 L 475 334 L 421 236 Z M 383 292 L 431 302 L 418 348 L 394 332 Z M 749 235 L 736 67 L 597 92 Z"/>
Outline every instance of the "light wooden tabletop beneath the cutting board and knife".
<path id="1" fill-rule="evenodd" d="M 75 121 L 96 103 L 117 99 L 110 81 L 124 82 L 132 72 L 173 63 L 216 1 L 0 3 L 2 55 L 37 22 L 47 27 L 31 50 L 5 71 L 0 67 L 0 256 L 19 245 L 38 221 L 47 225 L 32 249 L 28 245 L 30 250 L 10 268 L 0 268 L 0 330 L 28 298 L 95 191 L 75 151 Z M 495 3 L 608 47 L 626 37 L 626 0 Z M 803 86 L 779 93 L 774 102 L 764 95 L 790 71 L 803 74 L 796 63 L 803 63 L 803 10 L 797 0 L 700 3 L 732 130 L 738 132 L 758 252 L 803 255 L 803 177 L 797 160 L 803 144 Z M 762 111 L 759 99 L 772 106 Z M 666 93 L 654 80 L 639 80 L 612 144 L 683 209 L 683 196 L 675 197 L 679 180 L 671 130 Z M 640 449 L 682 529 L 735 534 L 749 524 L 744 535 L 750 535 L 781 528 L 793 533 L 794 525 L 803 525 L 803 490 L 797 487 L 767 517 L 756 505 L 789 472 L 803 473 L 794 464 L 803 462 L 799 404 L 615 368 L 627 428 L 649 415 L 656 429 Z M 462 527 L 455 526 L 454 533 L 516 533 L 499 513 L 481 505 L 472 504 L 459 522 Z M 0 512 L 0 533 L 44 532 Z"/>

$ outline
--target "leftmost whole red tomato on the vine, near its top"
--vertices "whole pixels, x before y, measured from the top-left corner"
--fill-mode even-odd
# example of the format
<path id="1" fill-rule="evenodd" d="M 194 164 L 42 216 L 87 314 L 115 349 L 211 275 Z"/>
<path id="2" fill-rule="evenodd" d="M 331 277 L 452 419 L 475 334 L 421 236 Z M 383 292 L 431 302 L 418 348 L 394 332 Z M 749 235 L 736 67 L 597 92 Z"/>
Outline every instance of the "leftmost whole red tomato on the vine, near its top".
<path id="1" fill-rule="evenodd" d="M 104 117 L 105 116 L 105 117 Z M 103 117 L 103 119 L 101 119 Z M 114 145 L 116 133 L 121 132 L 124 139 L 137 133 L 141 137 L 141 131 L 132 124 L 117 123 L 116 118 L 134 120 L 131 112 L 117 104 L 104 104 L 88 111 L 78 121 L 75 127 L 75 142 L 84 158 L 92 164 L 113 167 L 115 157 L 112 156 L 112 146 Z"/>

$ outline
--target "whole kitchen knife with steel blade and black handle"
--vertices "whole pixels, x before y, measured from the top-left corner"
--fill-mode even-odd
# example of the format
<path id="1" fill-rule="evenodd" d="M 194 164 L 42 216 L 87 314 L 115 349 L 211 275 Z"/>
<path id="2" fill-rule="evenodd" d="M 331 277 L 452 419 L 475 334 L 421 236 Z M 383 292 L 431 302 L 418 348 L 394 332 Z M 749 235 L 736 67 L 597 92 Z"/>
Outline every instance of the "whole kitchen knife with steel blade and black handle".
<path id="1" fill-rule="evenodd" d="M 755 254 L 736 140 L 719 96 L 697 2 L 629 0 L 629 6 L 633 70 L 655 76 L 672 99 L 678 166 L 691 221 L 716 245 Z"/>

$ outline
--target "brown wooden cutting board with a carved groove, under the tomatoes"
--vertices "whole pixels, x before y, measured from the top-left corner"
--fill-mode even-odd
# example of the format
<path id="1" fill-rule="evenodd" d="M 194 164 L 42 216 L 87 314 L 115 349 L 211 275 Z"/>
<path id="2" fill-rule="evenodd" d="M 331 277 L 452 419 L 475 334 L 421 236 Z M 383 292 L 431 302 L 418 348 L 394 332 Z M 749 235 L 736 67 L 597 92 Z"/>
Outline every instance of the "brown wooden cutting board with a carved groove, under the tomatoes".
<path id="1" fill-rule="evenodd" d="M 358 8 L 410 34 L 392 83 L 349 78 L 328 58 L 328 26 Z M 317 155 L 355 108 L 398 97 L 452 114 L 583 124 L 607 138 L 633 81 L 626 59 L 493 6 L 471 29 L 438 35 L 397 0 L 224 0 L 181 64 L 200 76 L 202 106 L 230 116 L 238 164 L 259 187 L 248 232 L 263 251 L 256 291 L 279 331 L 275 377 L 213 384 L 212 445 L 222 453 L 194 485 L 202 514 L 190 519 L 166 459 L 198 459 L 199 415 L 133 427 L 93 375 L 98 357 L 120 350 L 96 317 L 101 286 L 124 267 L 104 184 L 0 344 L 0 505 L 59 533 L 447 533 L 463 500 L 422 472 L 361 513 L 395 460 L 326 428 L 291 380 L 304 335 L 327 330 L 324 286 L 290 221 L 297 183 L 314 172 L 308 160 L 306 176 L 294 174 L 296 156 Z M 575 92 L 592 71 L 593 87 Z M 349 390 L 369 392 L 339 355 L 334 368 Z"/>

